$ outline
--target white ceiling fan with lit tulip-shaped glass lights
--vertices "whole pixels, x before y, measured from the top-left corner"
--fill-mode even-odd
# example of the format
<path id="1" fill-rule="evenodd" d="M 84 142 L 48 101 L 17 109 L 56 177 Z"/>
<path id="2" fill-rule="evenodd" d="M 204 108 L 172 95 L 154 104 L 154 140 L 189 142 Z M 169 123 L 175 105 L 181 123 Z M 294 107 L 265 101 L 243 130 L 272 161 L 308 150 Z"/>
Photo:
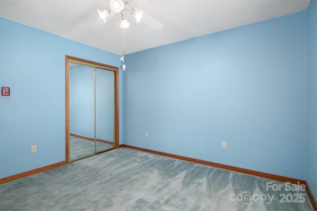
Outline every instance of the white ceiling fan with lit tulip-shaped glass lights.
<path id="1" fill-rule="evenodd" d="M 130 27 L 129 21 L 127 21 L 126 17 L 124 16 L 124 12 L 127 11 L 130 15 L 132 15 L 136 22 L 139 23 L 142 21 L 143 23 L 147 24 L 154 30 L 160 30 L 163 27 L 163 24 L 161 24 L 159 21 L 155 20 L 154 18 L 150 17 L 146 13 L 143 12 L 141 9 L 132 8 L 130 9 L 128 7 L 128 4 L 133 0 L 109 0 L 110 2 L 110 9 L 106 8 L 103 11 L 97 10 L 99 13 L 98 20 L 93 24 L 93 27 L 100 28 L 103 27 L 106 22 L 108 22 L 115 14 L 120 13 L 121 14 L 121 22 L 119 23 L 119 26 L 122 29 L 127 29 Z"/>

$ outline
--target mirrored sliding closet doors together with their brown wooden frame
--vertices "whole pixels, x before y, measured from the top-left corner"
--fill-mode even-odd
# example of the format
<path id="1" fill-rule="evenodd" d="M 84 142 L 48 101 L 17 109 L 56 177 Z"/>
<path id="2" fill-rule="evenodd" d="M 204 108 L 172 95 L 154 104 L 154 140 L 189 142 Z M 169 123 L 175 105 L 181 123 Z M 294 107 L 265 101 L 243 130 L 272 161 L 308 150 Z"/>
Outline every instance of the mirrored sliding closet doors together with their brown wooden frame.
<path id="1" fill-rule="evenodd" d="M 67 162 L 118 147 L 118 70 L 65 56 Z"/>

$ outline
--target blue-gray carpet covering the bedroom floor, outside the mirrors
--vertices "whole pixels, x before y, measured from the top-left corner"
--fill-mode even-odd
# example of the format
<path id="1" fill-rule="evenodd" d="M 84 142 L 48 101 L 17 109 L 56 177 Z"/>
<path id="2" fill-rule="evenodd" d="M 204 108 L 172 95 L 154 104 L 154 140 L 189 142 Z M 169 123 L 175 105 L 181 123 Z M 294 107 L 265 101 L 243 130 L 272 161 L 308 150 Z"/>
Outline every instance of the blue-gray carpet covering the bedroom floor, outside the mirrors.
<path id="1" fill-rule="evenodd" d="M 311 211 L 284 183 L 119 148 L 0 185 L 1 211 Z M 250 192 L 251 201 L 245 195 Z M 273 200 L 264 199 L 264 195 Z M 302 194 L 281 203 L 280 194 Z M 290 201 L 290 195 L 287 201 Z M 304 202 L 305 200 L 305 202 Z M 282 200 L 283 201 L 283 200 Z M 270 203 L 269 203 L 270 202 Z"/>

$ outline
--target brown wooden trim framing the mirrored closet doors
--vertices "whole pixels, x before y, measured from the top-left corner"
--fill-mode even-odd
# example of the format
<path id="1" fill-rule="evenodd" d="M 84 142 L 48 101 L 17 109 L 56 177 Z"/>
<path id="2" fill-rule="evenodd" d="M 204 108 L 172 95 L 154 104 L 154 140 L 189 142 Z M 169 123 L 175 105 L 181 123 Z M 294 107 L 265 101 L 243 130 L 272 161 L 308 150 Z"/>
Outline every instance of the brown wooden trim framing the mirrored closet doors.
<path id="1" fill-rule="evenodd" d="M 65 160 L 69 163 L 69 60 L 113 71 L 114 75 L 114 148 L 119 148 L 119 67 L 65 55 Z"/>

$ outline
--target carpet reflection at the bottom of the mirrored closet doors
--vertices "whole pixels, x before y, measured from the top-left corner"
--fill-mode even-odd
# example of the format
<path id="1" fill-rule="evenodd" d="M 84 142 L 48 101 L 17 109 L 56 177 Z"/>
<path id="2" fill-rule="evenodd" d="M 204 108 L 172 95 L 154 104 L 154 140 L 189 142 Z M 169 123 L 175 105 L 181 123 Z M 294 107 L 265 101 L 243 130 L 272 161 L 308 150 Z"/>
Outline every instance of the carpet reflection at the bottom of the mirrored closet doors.
<path id="1" fill-rule="evenodd" d="M 70 160 L 76 160 L 95 154 L 95 142 L 70 136 Z M 97 152 L 112 149 L 113 145 L 96 141 Z"/>

